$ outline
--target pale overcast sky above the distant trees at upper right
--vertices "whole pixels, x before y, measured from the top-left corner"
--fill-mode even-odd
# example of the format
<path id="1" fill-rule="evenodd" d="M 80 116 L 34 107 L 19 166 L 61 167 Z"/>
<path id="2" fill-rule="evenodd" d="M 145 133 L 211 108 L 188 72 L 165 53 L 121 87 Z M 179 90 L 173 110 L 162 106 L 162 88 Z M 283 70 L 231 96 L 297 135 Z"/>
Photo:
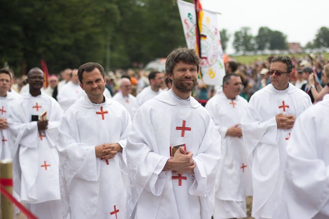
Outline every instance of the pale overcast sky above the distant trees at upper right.
<path id="1" fill-rule="evenodd" d="M 219 12 L 219 29 L 227 29 L 230 47 L 234 32 L 250 27 L 269 27 L 287 35 L 288 43 L 305 46 L 320 27 L 329 27 L 329 0 L 200 0 L 204 9 Z M 228 48 L 227 53 L 234 50 Z"/>

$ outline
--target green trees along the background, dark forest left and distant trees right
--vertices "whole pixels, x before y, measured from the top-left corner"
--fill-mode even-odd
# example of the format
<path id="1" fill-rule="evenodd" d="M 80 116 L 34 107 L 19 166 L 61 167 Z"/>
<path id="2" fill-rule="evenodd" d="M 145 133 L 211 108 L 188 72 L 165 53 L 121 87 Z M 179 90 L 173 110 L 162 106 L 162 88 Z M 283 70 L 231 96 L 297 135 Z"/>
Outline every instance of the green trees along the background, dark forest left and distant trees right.
<path id="1" fill-rule="evenodd" d="M 52 74 L 90 61 L 107 71 L 126 69 L 186 46 L 174 0 L 1 0 L 0 8 L 0 67 L 16 74 L 40 67 L 41 57 Z M 329 30 L 322 28 L 314 46 L 328 47 Z M 225 50 L 230 35 L 225 29 L 220 35 Z M 254 37 L 244 27 L 234 33 L 233 46 L 272 49 L 284 47 L 285 39 L 267 27 Z"/>

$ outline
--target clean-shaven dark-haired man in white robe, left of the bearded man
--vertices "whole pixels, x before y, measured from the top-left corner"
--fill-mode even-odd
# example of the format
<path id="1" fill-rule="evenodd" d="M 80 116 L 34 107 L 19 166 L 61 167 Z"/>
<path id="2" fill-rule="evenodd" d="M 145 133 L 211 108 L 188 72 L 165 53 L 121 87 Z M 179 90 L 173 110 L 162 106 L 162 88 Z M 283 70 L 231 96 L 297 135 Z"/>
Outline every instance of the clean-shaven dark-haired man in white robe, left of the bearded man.
<path id="1" fill-rule="evenodd" d="M 123 219 L 127 183 L 122 171 L 127 167 L 122 151 L 131 118 L 121 104 L 104 96 L 100 64 L 83 64 L 78 76 L 86 95 L 64 113 L 56 145 L 63 218 Z"/>

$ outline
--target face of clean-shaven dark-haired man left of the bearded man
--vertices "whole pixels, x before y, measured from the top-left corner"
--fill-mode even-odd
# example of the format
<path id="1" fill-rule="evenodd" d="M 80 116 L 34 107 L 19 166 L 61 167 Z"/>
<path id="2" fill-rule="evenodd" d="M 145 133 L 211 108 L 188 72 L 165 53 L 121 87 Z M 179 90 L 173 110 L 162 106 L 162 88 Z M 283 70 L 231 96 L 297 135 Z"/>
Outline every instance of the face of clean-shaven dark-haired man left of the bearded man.
<path id="1" fill-rule="evenodd" d="M 98 68 L 94 68 L 91 72 L 82 72 L 82 83 L 80 83 L 80 86 L 91 102 L 96 104 L 103 102 L 105 84 L 106 77 L 103 78 Z"/>

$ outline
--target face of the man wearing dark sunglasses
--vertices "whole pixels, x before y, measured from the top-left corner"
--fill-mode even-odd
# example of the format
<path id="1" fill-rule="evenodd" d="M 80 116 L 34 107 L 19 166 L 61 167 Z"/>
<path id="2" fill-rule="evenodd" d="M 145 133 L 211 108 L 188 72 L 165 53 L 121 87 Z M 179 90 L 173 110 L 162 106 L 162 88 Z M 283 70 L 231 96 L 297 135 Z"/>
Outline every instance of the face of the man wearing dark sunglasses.
<path id="1" fill-rule="evenodd" d="M 284 73 L 287 72 L 287 69 L 288 68 L 285 63 L 277 61 L 271 64 L 270 71 Z M 277 90 L 284 90 L 288 87 L 288 82 L 292 75 L 292 72 L 290 72 L 289 74 L 281 74 L 280 76 L 273 74 L 270 76 L 271 83 Z"/>

